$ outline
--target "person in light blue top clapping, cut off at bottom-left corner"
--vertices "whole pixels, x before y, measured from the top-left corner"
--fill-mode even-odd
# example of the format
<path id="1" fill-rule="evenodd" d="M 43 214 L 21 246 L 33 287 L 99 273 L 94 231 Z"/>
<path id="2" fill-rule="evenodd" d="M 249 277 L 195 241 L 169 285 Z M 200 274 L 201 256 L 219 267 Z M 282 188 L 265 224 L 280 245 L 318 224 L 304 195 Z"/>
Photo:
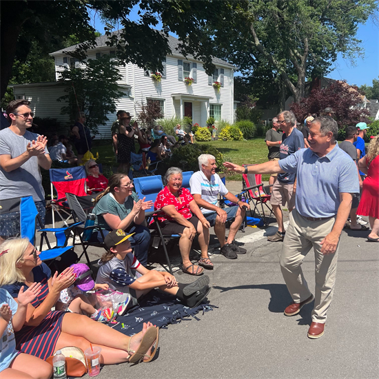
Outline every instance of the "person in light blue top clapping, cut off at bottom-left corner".
<path id="1" fill-rule="evenodd" d="M 0 378 L 49 379 L 52 376 L 52 367 L 47 362 L 17 351 L 14 339 L 14 331 L 19 331 L 25 323 L 28 304 L 36 298 L 40 288 L 39 283 L 25 290 L 21 287 L 17 302 L 0 288 Z"/>

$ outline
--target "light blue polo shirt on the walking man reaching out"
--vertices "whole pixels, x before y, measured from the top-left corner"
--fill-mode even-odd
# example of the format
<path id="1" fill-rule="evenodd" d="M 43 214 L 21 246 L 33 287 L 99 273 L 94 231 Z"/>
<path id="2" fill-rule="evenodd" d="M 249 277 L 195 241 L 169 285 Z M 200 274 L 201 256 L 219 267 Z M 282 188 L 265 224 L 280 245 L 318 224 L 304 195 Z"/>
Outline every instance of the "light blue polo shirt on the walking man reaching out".
<path id="1" fill-rule="evenodd" d="M 340 193 L 359 194 L 356 163 L 337 144 L 322 157 L 302 149 L 278 163 L 285 172 L 296 173 L 296 209 L 302 216 L 335 216 Z"/>

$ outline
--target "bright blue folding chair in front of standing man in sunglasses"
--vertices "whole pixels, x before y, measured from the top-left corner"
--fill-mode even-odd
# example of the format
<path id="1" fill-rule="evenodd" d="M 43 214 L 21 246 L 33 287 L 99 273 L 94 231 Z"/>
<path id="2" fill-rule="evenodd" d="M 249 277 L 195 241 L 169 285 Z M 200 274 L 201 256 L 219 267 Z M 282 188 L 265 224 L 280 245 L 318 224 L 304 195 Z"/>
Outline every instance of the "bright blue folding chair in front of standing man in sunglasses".
<path id="1" fill-rule="evenodd" d="M 42 224 L 32 196 L 8 198 L 7 200 L 0 201 L 0 214 L 10 212 L 20 212 L 21 238 L 27 237 L 32 245 L 37 245 L 37 221 L 39 221 L 39 225 Z M 51 260 L 49 265 L 52 265 L 53 263 L 57 263 L 57 261 L 59 261 L 59 257 L 65 254 L 65 252 L 68 252 L 70 249 L 73 250 L 73 246 L 68 246 L 68 237 L 70 236 L 70 231 L 74 227 L 76 227 L 75 224 L 70 225 L 69 227 L 39 229 L 38 232 L 41 232 L 41 240 L 39 245 L 41 255 L 39 258 L 45 261 Z M 48 232 L 53 232 L 55 234 L 57 241 L 56 247 L 51 246 L 50 241 L 48 240 Z M 44 240 L 46 241 L 46 245 L 48 245 L 48 250 L 42 251 Z M 76 261 L 76 258 L 77 256 L 75 254 L 74 261 Z"/>

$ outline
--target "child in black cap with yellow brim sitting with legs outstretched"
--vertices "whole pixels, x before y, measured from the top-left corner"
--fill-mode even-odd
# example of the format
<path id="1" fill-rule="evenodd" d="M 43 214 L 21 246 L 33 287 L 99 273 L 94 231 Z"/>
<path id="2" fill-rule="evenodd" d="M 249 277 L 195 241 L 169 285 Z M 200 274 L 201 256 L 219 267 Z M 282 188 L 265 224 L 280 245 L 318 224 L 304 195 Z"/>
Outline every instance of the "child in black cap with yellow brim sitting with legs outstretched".
<path id="1" fill-rule="evenodd" d="M 105 236 L 108 252 L 99 260 L 96 283 L 107 284 L 115 291 L 129 292 L 132 289 L 135 304 L 140 296 L 158 287 L 176 296 L 187 307 L 197 307 L 211 290 L 209 277 L 204 275 L 194 283 L 183 284 L 177 283 L 176 278 L 168 272 L 146 269 L 132 253 L 128 238 L 133 234 L 127 235 L 122 229 L 117 229 Z M 137 277 L 132 269 L 141 275 Z"/>

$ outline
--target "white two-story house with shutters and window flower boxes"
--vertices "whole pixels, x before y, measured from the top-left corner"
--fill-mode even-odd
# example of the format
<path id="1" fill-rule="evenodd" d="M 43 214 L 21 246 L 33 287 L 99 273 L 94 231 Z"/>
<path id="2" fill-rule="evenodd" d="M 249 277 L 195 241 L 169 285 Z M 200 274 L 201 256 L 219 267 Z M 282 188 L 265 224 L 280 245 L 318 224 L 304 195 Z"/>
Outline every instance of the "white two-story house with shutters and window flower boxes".
<path id="1" fill-rule="evenodd" d="M 172 53 L 167 55 L 163 62 L 161 82 L 155 81 L 150 76 L 150 72 L 135 64 L 127 63 L 125 67 L 119 66 L 122 76 L 119 86 L 124 96 L 119 100 L 117 110 L 122 109 L 133 116 L 138 116 L 142 104 L 158 100 L 165 118 L 190 116 L 192 123 L 198 123 L 201 126 L 206 125 L 209 116 L 213 116 L 216 120 L 234 122 L 234 66 L 214 58 L 216 70 L 212 76 L 208 76 L 201 61 L 196 61 L 191 56 L 185 58 L 178 52 L 178 39 L 169 36 L 168 40 Z M 106 41 L 106 36 L 98 37 L 96 48 L 88 50 L 88 59 L 99 58 L 102 54 L 114 55 L 114 48 L 107 46 Z M 59 73 L 63 70 L 85 64 L 66 54 L 75 48 L 74 45 L 50 54 L 55 59 L 56 79 L 59 79 Z M 187 85 L 186 77 L 193 78 L 194 83 Z M 215 81 L 221 83 L 220 90 L 214 88 Z M 63 103 L 56 100 L 64 94 L 64 88 L 64 83 L 58 81 L 13 85 L 15 98 L 31 101 L 33 111 L 37 116 L 49 116 L 67 122 L 68 116 L 60 114 Z M 111 114 L 108 118 L 110 121 L 107 125 L 99 126 L 101 138 L 110 138 L 110 125 L 116 119 L 116 115 Z"/>

